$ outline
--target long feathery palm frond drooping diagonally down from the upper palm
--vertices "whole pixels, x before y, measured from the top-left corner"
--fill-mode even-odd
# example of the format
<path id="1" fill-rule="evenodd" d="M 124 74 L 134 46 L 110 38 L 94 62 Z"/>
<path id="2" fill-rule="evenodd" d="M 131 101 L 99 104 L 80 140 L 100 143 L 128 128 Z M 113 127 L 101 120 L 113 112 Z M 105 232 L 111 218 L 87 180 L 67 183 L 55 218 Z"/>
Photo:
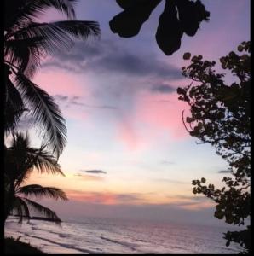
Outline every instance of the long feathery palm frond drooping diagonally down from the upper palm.
<path id="1" fill-rule="evenodd" d="M 37 125 L 40 125 L 45 144 L 52 148 L 58 158 L 66 143 L 66 125 L 61 110 L 54 102 L 54 98 L 32 83 L 22 73 L 16 74 L 16 84 L 21 96 L 30 106 L 32 116 Z"/>

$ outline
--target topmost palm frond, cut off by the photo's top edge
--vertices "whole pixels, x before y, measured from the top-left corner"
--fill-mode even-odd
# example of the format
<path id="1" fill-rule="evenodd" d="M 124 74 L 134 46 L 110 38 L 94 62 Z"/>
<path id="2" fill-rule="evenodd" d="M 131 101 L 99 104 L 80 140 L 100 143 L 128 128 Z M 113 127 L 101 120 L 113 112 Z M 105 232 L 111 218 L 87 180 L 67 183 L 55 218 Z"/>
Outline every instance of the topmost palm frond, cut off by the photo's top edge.
<path id="1" fill-rule="evenodd" d="M 72 0 L 23 0 L 20 4 L 17 4 L 16 0 L 6 2 L 4 22 L 6 31 L 16 31 L 26 26 L 49 8 L 61 11 L 68 19 L 75 19 L 75 10 L 72 5 L 75 1 Z"/>

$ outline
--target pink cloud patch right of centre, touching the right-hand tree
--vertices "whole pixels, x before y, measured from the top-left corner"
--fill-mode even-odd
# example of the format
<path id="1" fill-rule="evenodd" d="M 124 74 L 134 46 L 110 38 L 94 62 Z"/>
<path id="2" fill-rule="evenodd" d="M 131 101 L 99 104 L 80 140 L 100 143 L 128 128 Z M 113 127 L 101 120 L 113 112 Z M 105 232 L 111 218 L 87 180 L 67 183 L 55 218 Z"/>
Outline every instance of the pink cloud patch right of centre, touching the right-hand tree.
<path id="1" fill-rule="evenodd" d="M 136 108 L 118 124 L 118 140 L 136 150 L 153 146 L 163 135 L 173 140 L 189 137 L 182 124 L 182 110 L 188 105 L 178 100 L 177 93 L 146 92 L 136 97 Z"/>

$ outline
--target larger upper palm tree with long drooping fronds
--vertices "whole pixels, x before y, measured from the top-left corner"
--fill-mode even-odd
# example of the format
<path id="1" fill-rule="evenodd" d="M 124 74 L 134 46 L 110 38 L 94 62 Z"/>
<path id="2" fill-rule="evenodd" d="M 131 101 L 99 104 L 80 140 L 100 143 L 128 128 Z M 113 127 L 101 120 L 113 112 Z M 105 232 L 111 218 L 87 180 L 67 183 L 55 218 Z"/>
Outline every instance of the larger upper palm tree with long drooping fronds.
<path id="1" fill-rule="evenodd" d="M 74 38 L 87 40 L 100 35 L 95 21 L 76 20 L 75 0 L 5 0 L 4 67 L 5 133 L 14 131 L 26 109 L 40 125 L 43 142 L 59 157 L 66 143 L 66 126 L 54 98 L 32 82 L 46 55 L 70 49 Z M 35 20 L 55 8 L 67 20 L 40 23 Z"/>

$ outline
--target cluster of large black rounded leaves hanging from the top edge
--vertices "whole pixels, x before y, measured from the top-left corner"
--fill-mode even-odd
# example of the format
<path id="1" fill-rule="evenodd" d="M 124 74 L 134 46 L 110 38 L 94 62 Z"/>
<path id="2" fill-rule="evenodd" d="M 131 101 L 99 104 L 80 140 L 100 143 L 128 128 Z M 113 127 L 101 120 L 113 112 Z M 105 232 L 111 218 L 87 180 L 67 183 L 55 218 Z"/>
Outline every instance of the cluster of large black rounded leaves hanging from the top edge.
<path id="1" fill-rule="evenodd" d="M 109 26 L 120 37 L 131 38 L 136 36 L 141 26 L 148 20 L 153 9 L 161 0 L 116 0 L 124 9 L 113 17 Z M 182 35 L 185 32 L 193 37 L 203 20 L 209 20 L 210 13 L 197 0 L 165 0 L 165 9 L 159 17 L 159 26 L 156 32 L 156 41 L 165 55 L 172 55 L 181 46 Z"/>

